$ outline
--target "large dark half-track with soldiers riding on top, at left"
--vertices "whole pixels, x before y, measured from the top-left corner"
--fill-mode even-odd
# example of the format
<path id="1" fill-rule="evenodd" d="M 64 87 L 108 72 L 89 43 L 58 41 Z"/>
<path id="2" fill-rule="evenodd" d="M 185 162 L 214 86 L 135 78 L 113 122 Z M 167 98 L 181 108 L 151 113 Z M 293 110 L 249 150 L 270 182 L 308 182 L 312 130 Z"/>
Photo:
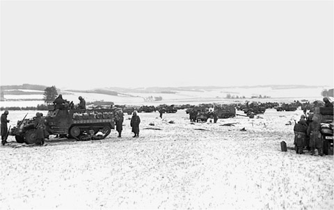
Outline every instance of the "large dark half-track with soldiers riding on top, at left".
<path id="1" fill-rule="evenodd" d="M 11 129 L 10 135 L 15 136 L 17 143 L 38 143 L 35 117 L 19 120 Z M 54 109 L 49 106 L 44 118 L 45 136 L 62 135 L 76 140 L 104 139 L 115 129 L 115 109 L 70 109 L 62 107 Z"/>

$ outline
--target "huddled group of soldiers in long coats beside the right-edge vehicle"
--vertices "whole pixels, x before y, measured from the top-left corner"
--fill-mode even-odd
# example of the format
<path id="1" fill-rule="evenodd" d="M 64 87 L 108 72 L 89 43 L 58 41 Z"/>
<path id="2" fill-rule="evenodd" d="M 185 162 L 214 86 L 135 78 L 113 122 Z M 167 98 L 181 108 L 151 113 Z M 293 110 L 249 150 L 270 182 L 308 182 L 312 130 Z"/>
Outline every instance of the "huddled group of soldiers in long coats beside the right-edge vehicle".
<path id="1" fill-rule="evenodd" d="M 329 102 L 327 97 L 324 97 L 325 107 L 333 108 L 333 104 Z M 301 115 L 301 119 L 294 125 L 294 145 L 296 154 L 303 154 L 306 149 L 315 155 L 315 149 L 319 156 L 323 156 L 324 143 L 321 139 L 321 124 L 319 118 L 312 113 L 305 119 L 305 115 Z"/>

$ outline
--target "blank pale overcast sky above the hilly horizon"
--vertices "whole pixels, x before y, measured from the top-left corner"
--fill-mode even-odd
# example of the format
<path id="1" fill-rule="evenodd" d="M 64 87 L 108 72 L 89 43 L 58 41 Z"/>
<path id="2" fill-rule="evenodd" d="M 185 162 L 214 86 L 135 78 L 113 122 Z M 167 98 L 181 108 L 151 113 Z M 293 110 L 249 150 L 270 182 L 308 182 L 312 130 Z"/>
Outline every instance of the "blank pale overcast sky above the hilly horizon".
<path id="1" fill-rule="evenodd" d="M 333 1 L 1 1 L 1 85 L 333 86 Z"/>

